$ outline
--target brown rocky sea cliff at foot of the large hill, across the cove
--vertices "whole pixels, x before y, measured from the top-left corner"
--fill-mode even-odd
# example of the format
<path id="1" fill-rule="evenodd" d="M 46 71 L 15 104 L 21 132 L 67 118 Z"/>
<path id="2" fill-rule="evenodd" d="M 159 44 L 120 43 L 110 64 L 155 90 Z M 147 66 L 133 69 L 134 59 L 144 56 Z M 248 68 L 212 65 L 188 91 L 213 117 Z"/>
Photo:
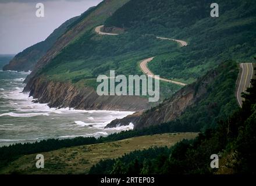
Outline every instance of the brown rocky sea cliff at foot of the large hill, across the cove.
<path id="1" fill-rule="evenodd" d="M 150 108 L 147 98 L 139 96 L 99 96 L 91 87 L 77 88 L 70 83 L 47 81 L 37 78 L 33 82 L 30 95 L 40 103 L 48 103 L 55 108 L 75 108 L 85 110 L 138 111 Z"/>

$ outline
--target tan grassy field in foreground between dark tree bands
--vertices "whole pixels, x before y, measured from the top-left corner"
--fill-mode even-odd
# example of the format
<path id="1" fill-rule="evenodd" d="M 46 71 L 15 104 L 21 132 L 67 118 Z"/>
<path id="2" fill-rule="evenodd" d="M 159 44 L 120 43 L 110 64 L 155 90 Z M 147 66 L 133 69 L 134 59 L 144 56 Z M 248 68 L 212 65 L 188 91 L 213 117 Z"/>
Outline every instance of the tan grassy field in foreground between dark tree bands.
<path id="1" fill-rule="evenodd" d="M 197 133 L 158 134 L 129 138 L 116 142 L 96 145 L 81 145 L 62 148 L 57 151 L 42 152 L 45 158 L 45 169 L 35 167 L 36 154 L 22 156 L 0 169 L 0 174 L 85 174 L 93 164 L 101 159 L 118 158 L 131 151 L 172 146 L 183 139 L 193 139 Z"/>

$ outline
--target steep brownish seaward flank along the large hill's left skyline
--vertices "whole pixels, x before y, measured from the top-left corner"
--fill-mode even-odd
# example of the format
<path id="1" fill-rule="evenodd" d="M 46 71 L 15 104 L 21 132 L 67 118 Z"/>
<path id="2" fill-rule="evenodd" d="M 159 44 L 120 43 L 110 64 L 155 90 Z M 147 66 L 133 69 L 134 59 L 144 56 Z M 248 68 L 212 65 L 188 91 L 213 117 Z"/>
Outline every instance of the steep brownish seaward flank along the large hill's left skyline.
<path id="1" fill-rule="evenodd" d="M 81 34 L 86 31 L 98 26 L 105 22 L 106 18 L 112 15 L 118 8 L 123 6 L 129 0 L 105 0 L 102 1 L 98 6 L 90 9 L 89 12 L 82 15 L 81 19 L 77 20 L 73 26 L 67 30 L 58 40 L 54 43 L 53 47 L 45 53 L 40 60 L 38 60 L 37 65 L 35 65 L 32 73 L 27 76 L 25 82 L 27 83 L 24 91 L 30 91 L 31 86 L 33 86 L 34 79 L 37 78 L 38 72 L 42 67 L 51 62 L 52 59 L 58 55 L 70 42 L 79 38 Z"/>

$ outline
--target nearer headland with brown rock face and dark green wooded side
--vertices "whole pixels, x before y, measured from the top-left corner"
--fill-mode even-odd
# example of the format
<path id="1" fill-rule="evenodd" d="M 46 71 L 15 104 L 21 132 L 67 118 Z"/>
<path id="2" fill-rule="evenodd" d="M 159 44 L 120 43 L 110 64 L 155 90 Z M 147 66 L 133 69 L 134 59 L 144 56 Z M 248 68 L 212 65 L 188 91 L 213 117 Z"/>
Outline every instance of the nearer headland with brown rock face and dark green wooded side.
<path id="1" fill-rule="evenodd" d="M 189 120 L 191 125 L 203 127 L 200 122 L 203 116 L 208 117 L 208 124 L 211 124 L 216 117 L 228 115 L 228 112 L 232 113 L 237 108 L 234 97 L 237 74 L 238 67 L 235 62 L 224 62 L 195 83 L 177 91 L 159 106 L 113 120 L 106 128 L 126 126 L 129 123 L 133 123 L 135 128 L 143 128 L 176 119 L 182 122 Z M 198 117 L 194 119 L 191 115 Z"/>

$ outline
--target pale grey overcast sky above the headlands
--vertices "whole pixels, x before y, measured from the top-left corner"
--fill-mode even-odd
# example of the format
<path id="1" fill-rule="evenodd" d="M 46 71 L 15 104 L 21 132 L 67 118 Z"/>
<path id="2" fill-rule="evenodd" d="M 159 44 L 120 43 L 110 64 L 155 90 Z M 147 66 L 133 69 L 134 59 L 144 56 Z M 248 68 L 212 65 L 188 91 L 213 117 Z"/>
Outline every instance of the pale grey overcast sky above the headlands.
<path id="1" fill-rule="evenodd" d="M 79 16 L 102 0 L 0 0 L 0 54 L 19 53 L 45 40 L 66 20 Z M 44 3 L 45 17 L 35 16 Z"/>

